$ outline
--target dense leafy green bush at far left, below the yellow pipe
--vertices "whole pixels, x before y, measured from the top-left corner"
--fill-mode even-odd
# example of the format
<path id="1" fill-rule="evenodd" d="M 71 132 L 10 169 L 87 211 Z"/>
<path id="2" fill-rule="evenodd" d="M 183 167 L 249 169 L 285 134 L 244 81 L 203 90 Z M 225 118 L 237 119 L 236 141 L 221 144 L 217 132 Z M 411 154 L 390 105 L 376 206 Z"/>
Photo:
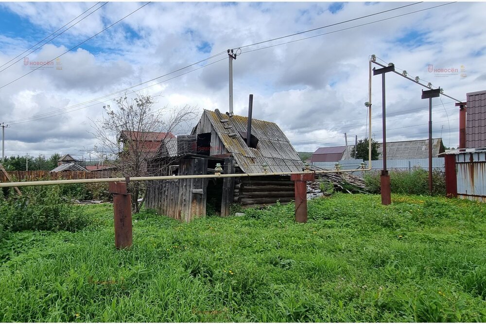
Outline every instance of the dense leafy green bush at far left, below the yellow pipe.
<path id="1" fill-rule="evenodd" d="M 69 200 L 63 197 L 61 186 L 25 187 L 22 196 L 11 194 L 0 201 L 0 227 L 10 231 L 75 231 L 85 227 L 87 216 L 74 212 Z"/>

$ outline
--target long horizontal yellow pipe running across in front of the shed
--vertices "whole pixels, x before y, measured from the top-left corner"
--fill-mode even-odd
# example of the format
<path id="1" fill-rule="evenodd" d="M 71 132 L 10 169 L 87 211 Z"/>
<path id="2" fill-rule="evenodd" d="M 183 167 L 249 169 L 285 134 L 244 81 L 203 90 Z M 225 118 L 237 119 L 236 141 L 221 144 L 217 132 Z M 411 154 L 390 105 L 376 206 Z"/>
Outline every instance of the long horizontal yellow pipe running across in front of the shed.
<path id="1" fill-rule="evenodd" d="M 167 175 L 167 176 L 147 176 L 147 177 L 127 177 L 127 178 L 100 178 L 100 179 L 69 179 L 69 180 L 41 180 L 23 182 L 3 182 L 0 188 L 8 187 L 29 187 L 29 186 L 52 186 L 68 185 L 79 183 L 100 183 L 100 182 L 123 182 L 129 181 L 151 181 L 151 180 L 176 180 L 176 179 L 198 179 L 198 178 L 241 178 L 256 177 L 266 175 L 290 175 L 290 174 L 319 174 L 319 173 L 340 173 L 355 171 L 371 171 L 370 168 L 352 170 L 322 170 L 322 171 L 298 171 L 298 172 L 261 172 L 261 173 L 232 173 L 232 174 L 195 174 L 195 175 Z"/>

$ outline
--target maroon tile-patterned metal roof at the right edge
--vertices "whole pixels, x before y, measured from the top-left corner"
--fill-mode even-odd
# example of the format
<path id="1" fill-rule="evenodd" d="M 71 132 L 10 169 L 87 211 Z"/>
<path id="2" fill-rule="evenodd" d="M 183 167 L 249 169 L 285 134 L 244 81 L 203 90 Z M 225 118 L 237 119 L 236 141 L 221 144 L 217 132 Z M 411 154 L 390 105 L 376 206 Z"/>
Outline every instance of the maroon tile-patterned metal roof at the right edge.
<path id="1" fill-rule="evenodd" d="M 486 90 L 466 94 L 466 147 L 486 147 Z"/>

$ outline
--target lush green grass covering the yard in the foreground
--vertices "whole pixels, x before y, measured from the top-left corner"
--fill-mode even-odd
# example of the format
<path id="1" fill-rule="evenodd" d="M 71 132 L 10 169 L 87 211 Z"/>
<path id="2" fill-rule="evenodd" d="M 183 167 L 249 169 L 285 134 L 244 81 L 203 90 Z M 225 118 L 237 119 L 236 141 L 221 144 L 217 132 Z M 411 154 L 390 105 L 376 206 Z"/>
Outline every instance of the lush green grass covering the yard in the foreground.
<path id="1" fill-rule="evenodd" d="M 486 321 L 486 205 L 335 194 L 189 224 L 142 212 L 114 248 L 110 205 L 76 233 L 0 243 L 3 322 Z M 8 250 L 8 251 L 7 251 Z"/>

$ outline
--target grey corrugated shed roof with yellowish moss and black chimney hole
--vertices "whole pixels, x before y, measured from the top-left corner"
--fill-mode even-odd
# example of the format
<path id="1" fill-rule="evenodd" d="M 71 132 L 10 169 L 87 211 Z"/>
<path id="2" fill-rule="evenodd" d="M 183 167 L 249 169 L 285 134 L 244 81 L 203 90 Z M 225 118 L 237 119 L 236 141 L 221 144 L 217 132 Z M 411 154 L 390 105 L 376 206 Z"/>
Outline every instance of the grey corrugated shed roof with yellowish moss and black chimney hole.
<path id="1" fill-rule="evenodd" d="M 259 139 L 257 148 L 254 149 L 248 147 L 238 134 L 246 132 L 247 117 L 234 115 L 229 118 L 227 115 L 222 115 L 218 109 L 204 110 L 203 114 L 206 114 L 226 150 L 234 156 L 244 172 L 262 172 L 263 163 L 268 164 L 269 172 L 302 171 L 304 164 L 276 123 L 252 119 L 251 134 Z M 229 119 L 229 121 L 221 122 L 221 119 Z M 228 124 L 233 127 L 225 128 Z M 237 136 L 229 136 L 232 133 L 236 133 Z"/>

